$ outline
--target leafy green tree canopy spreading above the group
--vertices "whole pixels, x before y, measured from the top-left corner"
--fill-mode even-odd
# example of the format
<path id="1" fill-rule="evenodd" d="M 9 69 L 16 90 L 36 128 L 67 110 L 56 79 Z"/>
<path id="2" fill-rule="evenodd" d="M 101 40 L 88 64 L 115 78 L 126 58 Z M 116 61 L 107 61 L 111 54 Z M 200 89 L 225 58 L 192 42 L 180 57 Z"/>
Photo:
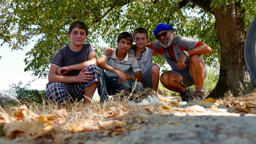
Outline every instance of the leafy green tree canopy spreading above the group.
<path id="1" fill-rule="evenodd" d="M 1 0 L 1 45 L 22 50 L 36 38 L 35 46 L 26 54 L 24 70 L 44 78 L 55 51 L 70 43 L 68 27 L 74 20 L 83 20 L 88 25 L 86 43 L 93 44 L 98 57 L 103 49 L 100 39 L 116 47 L 120 32 L 132 33 L 135 28 L 144 27 L 149 32 L 148 42 L 153 42 L 154 28 L 159 23 L 168 23 L 175 34 L 208 44 L 212 53 L 203 58 L 208 66 L 216 66 L 221 46 L 214 10 L 221 9 L 220 13 L 225 15 L 230 6 L 236 5 L 232 13 L 239 14 L 248 30 L 255 15 L 255 3 L 256 0 Z M 163 67 L 166 62 L 162 59 L 155 56 L 154 62 Z"/>

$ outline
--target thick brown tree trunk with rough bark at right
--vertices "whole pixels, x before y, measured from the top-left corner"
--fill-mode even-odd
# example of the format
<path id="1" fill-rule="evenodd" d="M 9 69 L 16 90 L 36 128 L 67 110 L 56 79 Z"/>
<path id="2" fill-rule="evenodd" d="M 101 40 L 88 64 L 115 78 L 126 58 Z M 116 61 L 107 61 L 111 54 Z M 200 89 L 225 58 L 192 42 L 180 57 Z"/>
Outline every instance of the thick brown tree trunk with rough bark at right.
<path id="1" fill-rule="evenodd" d="M 218 83 L 208 97 L 243 96 L 255 88 L 244 61 L 247 31 L 237 7 L 236 4 L 222 6 L 213 12 L 219 32 L 221 59 Z"/>

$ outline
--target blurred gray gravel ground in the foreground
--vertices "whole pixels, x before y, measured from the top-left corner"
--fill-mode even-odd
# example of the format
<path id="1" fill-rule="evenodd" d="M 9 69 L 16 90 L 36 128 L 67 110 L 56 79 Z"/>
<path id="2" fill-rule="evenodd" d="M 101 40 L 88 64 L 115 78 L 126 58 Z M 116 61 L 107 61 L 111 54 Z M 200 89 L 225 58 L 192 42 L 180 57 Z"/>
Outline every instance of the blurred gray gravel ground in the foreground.
<path id="1" fill-rule="evenodd" d="M 189 103 L 188 103 L 189 104 Z M 187 104 L 187 105 L 188 105 Z M 184 106 L 185 107 L 185 106 Z M 209 107 L 205 105 L 204 107 Z M 119 136 L 103 136 L 96 131 L 78 133 L 67 143 L 256 143 L 256 115 L 234 113 L 234 109 L 223 106 L 228 112 L 214 112 L 205 108 L 201 112 L 176 112 L 154 118 L 150 123 L 138 124 L 138 130 L 123 132 Z"/>

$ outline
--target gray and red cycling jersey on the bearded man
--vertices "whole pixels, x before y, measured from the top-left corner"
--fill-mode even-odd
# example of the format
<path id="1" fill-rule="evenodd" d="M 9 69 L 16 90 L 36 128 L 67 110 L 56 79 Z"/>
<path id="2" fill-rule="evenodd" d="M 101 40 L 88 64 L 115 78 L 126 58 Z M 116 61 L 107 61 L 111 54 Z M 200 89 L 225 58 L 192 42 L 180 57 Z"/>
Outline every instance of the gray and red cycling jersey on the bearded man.
<path id="1" fill-rule="evenodd" d="M 193 49 L 193 48 L 199 46 L 200 44 L 201 44 L 201 42 L 199 42 L 199 41 L 195 41 L 195 40 L 189 39 L 187 37 L 174 34 L 173 51 L 174 51 L 174 56 L 176 58 L 176 61 L 178 61 L 180 55 L 183 55 L 182 52 L 184 50 Z M 186 70 L 189 68 L 189 56 L 187 57 L 187 59 L 185 61 L 186 66 L 184 68 L 178 69 L 177 63 L 175 63 L 170 58 L 167 48 L 163 48 L 158 40 L 152 42 L 150 45 L 153 46 L 153 48 L 156 49 L 157 51 L 160 50 L 160 52 L 164 55 L 167 63 L 170 65 L 172 70 L 183 71 L 183 70 Z"/>

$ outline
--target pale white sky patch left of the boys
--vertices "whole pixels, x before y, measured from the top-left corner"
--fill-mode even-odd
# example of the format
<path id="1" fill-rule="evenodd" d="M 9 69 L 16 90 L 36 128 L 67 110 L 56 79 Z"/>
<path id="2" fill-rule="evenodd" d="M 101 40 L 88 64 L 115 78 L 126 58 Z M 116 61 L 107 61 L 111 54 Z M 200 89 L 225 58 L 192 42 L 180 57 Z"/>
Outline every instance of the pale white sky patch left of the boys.
<path id="1" fill-rule="evenodd" d="M 24 72 L 26 67 L 25 62 L 23 61 L 26 56 L 25 54 L 31 50 L 33 46 L 28 45 L 24 50 L 14 50 L 3 44 L 0 48 L 0 90 L 10 89 L 9 85 L 12 83 L 18 84 L 19 81 L 22 81 L 23 86 L 29 81 L 36 79 L 31 83 L 30 89 L 44 90 L 48 79 L 38 79 L 35 76 L 32 76 L 32 72 Z"/>

